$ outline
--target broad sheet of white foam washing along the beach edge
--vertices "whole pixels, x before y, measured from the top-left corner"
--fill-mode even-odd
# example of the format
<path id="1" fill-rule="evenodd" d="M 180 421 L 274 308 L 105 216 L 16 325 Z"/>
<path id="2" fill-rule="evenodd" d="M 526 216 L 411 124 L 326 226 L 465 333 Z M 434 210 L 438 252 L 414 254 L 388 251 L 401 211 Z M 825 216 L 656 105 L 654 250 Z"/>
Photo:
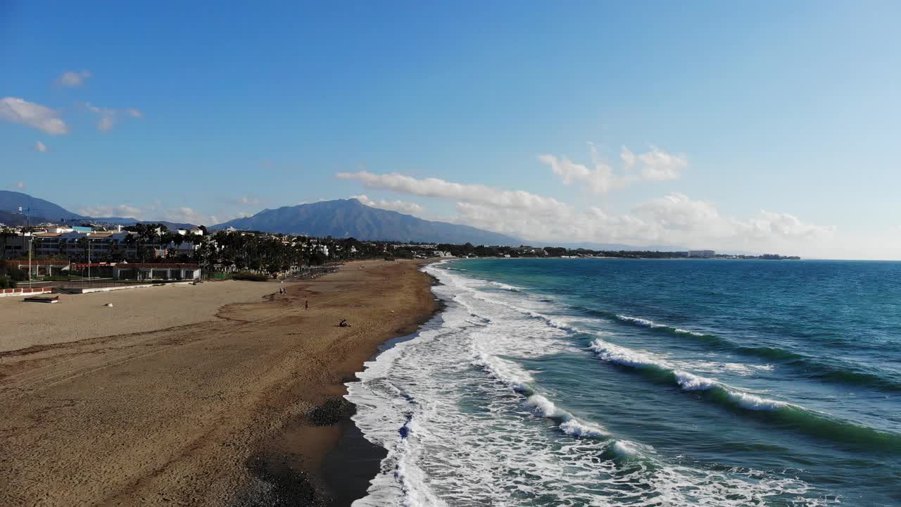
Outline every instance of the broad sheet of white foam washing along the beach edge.
<path id="1" fill-rule="evenodd" d="M 434 288 L 449 301 L 439 322 L 378 355 L 359 373 L 360 382 L 348 385 L 348 399 L 358 408 L 354 421 L 387 449 L 357 507 L 718 507 L 769 504 L 785 494 L 805 504 L 801 496 L 809 486 L 794 478 L 672 463 L 651 447 L 611 438 L 599 425 L 573 417 L 516 360 L 559 352 L 552 344 L 562 332 L 477 300 L 479 289 L 455 284 L 446 269 L 426 270 L 446 283 Z M 527 393 L 514 392 L 517 385 Z M 548 431 L 523 408 L 560 431 Z M 601 457 L 610 453 L 617 457 Z"/>

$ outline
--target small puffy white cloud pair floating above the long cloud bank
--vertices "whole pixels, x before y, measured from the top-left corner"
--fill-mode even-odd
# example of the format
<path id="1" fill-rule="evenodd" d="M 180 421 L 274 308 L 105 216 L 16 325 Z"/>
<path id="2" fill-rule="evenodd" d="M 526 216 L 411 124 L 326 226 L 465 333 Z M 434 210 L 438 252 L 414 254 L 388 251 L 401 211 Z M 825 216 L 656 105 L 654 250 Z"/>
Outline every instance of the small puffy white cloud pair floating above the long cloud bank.
<path id="1" fill-rule="evenodd" d="M 685 155 L 663 152 L 656 146 L 651 146 L 650 152 L 638 155 L 623 146 L 620 159 L 623 161 L 624 171 L 617 172 L 598 155 L 594 143 L 588 143 L 588 145 L 591 148 L 593 165 L 590 168 L 587 165 L 570 161 L 567 157 L 557 157 L 551 154 L 539 155 L 538 159 L 550 166 L 551 171 L 560 177 L 564 185 L 584 182 L 596 194 L 622 189 L 639 180 L 677 180 L 679 170 L 688 165 Z M 632 171 L 636 167 L 640 169 L 637 174 Z"/>

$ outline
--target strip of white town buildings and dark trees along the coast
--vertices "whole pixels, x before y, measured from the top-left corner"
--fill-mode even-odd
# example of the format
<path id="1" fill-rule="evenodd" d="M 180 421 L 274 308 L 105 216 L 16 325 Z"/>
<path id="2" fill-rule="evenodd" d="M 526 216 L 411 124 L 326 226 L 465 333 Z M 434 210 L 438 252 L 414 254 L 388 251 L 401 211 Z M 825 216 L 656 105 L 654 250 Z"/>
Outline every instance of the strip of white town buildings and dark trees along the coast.
<path id="1" fill-rule="evenodd" d="M 203 266 L 209 272 L 285 273 L 352 259 L 461 258 L 622 258 L 622 259 L 767 259 L 796 260 L 775 253 L 717 254 L 713 250 L 660 252 L 650 250 L 591 250 L 521 244 L 426 244 L 359 241 L 355 238 L 286 235 L 236 230 L 208 234 L 205 227 L 169 230 L 162 224 L 132 226 L 39 224 L 0 226 L 0 260 L 26 267 L 31 259 L 34 277 L 102 276 L 109 279 L 193 279 L 183 271 Z M 145 265 L 146 264 L 146 265 Z M 152 264 L 152 265 L 151 265 Z M 162 267 L 166 264 L 168 267 Z M 118 267 L 114 267 L 118 266 Z M 199 267 L 196 269 L 200 269 Z M 73 275 L 72 272 L 85 271 Z M 89 273 L 87 273 L 90 271 Z M 165 272 L 164 272 L 165 271 Z"/>

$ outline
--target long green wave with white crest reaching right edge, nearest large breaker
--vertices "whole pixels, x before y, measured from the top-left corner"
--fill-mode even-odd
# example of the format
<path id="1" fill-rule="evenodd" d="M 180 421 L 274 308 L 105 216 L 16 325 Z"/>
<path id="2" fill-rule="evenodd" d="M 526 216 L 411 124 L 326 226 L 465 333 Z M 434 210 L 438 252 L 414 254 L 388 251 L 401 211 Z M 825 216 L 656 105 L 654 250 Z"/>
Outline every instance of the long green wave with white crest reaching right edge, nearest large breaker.
<path id="1" fill-rule="evenodd" d="M 688 373 L 670 366 L 662 359 L 627 347 L 596 339 L 588 347 L 598 358 L 633 368 L 654 380 L 678 384 L 683 391 L 703 392 L 703 398 L 726 408 L 758 413 L 778 425 L 797 429 L 817 438 L 827 438 L 871 450 L 901 450 L 901 435 L 836 419 L 829 414 L 810 410 L 787 401 L 763 398 L 744 392 L 715 379 Z"/>

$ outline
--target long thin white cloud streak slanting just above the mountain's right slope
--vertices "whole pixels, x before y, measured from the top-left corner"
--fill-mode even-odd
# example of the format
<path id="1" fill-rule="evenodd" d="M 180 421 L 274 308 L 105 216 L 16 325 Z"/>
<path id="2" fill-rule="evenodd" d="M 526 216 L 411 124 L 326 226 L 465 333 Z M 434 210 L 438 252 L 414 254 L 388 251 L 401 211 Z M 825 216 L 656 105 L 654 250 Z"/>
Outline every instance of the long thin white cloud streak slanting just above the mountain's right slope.
<path id="1" fill-rule="evenodd" d="M 545 198 L 523 190 L 498 190 L 485 185 L 469 185 L 426 178 L 417 180 L 403 174 L 373 174 L 369 171 L 339 172 L 341 180 L 359 180 L 370 189 L 385 189 L 431 198 L 447 198 L 497 207 L 548 212 L 566 207 L 555 198 Z"/>

